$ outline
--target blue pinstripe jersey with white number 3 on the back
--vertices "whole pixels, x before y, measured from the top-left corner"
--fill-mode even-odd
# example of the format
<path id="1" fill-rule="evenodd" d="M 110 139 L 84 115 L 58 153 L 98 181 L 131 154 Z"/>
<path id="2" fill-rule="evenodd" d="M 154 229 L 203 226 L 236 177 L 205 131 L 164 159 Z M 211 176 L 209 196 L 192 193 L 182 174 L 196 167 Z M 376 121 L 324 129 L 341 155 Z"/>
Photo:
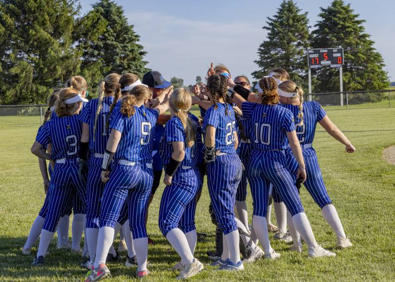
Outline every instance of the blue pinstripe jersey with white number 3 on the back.
<path id="1" fill-rule="evenodd" d="M 78 157 L 79 140 L 81 139 L 82 123 L 79 115 L 59 118 L 56 115 L 47 121 L 36 138 L 42 146 L 52 144 L 52 160 Z"/>

